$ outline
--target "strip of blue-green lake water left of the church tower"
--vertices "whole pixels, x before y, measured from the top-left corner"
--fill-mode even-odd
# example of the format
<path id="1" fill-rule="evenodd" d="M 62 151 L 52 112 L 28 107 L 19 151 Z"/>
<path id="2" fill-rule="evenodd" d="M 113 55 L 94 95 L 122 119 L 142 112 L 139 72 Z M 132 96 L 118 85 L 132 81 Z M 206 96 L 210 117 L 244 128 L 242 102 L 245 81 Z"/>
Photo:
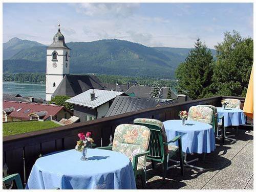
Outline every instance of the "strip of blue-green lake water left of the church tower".
<path id="1" fill-rule="evenodd" d="M 42 83 L 18 83 L 3 81 L 4 94 L 17 94 L 24 97 L 35 97 L 46 99 L 46 85 Z"/>

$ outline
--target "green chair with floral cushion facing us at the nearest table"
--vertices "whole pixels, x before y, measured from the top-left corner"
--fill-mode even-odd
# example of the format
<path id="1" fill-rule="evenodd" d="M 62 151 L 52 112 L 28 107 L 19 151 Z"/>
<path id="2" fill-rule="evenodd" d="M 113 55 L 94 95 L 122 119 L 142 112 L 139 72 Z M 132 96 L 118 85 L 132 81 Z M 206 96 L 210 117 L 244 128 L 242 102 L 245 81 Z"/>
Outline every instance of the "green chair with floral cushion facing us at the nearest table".
<path id="1" fill-rule="evenodd" d="M 150 130 L 145 126 L 121 124 L 116 127 L 112 146 L 99 147 L 120 152 L 130 158 L 134 176 L 140 176 L 142 186 L 146 184 L 146 154 L 150 140 Z"/>

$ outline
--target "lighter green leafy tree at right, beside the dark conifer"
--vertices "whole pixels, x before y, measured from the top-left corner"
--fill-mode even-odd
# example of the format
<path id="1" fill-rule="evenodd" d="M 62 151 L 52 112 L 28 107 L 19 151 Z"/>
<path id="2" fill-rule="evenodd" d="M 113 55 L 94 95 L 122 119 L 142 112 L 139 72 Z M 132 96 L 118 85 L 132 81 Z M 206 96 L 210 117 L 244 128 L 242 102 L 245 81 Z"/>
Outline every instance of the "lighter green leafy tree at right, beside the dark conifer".
<path id="1" fill-rule="evenodd" d="M 217 61 L 212 77 L 212 92 L 216 95 L 245 97 L 253 63 L 253 40 L 242 38 L 237 31 L 224 33 L 218 43 Z"/>

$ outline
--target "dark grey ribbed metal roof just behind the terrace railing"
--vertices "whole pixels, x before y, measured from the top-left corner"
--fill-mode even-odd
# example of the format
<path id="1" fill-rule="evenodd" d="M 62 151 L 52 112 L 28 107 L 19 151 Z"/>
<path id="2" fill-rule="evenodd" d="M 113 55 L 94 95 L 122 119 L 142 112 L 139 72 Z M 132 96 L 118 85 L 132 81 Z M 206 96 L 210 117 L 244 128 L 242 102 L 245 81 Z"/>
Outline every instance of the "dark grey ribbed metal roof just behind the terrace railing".
<path id="1" fill-rule="evenodd" d="M 156 107 L 166 99 L 117 96 L 105 117 Z"/>

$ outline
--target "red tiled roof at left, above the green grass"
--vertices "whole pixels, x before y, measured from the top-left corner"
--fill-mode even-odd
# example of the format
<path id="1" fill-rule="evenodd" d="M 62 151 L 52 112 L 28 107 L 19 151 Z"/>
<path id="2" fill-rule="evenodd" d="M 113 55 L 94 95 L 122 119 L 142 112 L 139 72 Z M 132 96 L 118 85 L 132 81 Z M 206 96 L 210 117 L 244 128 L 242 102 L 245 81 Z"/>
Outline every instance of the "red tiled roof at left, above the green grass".
<path id="1" fill-rule="evenodd" d="M 39 111 L 47 111 L 47 115 L 44 117 L 44 119 L 47 119 L 51 115 L 52 116 L 56 115 L 60 110 L 64 108 L 63 106 L 58 106 L 58 105 L 3 101 L 3 109 L 9 108 L 9 107 L 15 108 L 15 110 L 11 112 L 9 116 L 22 118 L 22 119 L 30 119 L 29 117 L 30 113 L 39 112 Z M 18 109 L 20 110 L 17 111 Z"/>

